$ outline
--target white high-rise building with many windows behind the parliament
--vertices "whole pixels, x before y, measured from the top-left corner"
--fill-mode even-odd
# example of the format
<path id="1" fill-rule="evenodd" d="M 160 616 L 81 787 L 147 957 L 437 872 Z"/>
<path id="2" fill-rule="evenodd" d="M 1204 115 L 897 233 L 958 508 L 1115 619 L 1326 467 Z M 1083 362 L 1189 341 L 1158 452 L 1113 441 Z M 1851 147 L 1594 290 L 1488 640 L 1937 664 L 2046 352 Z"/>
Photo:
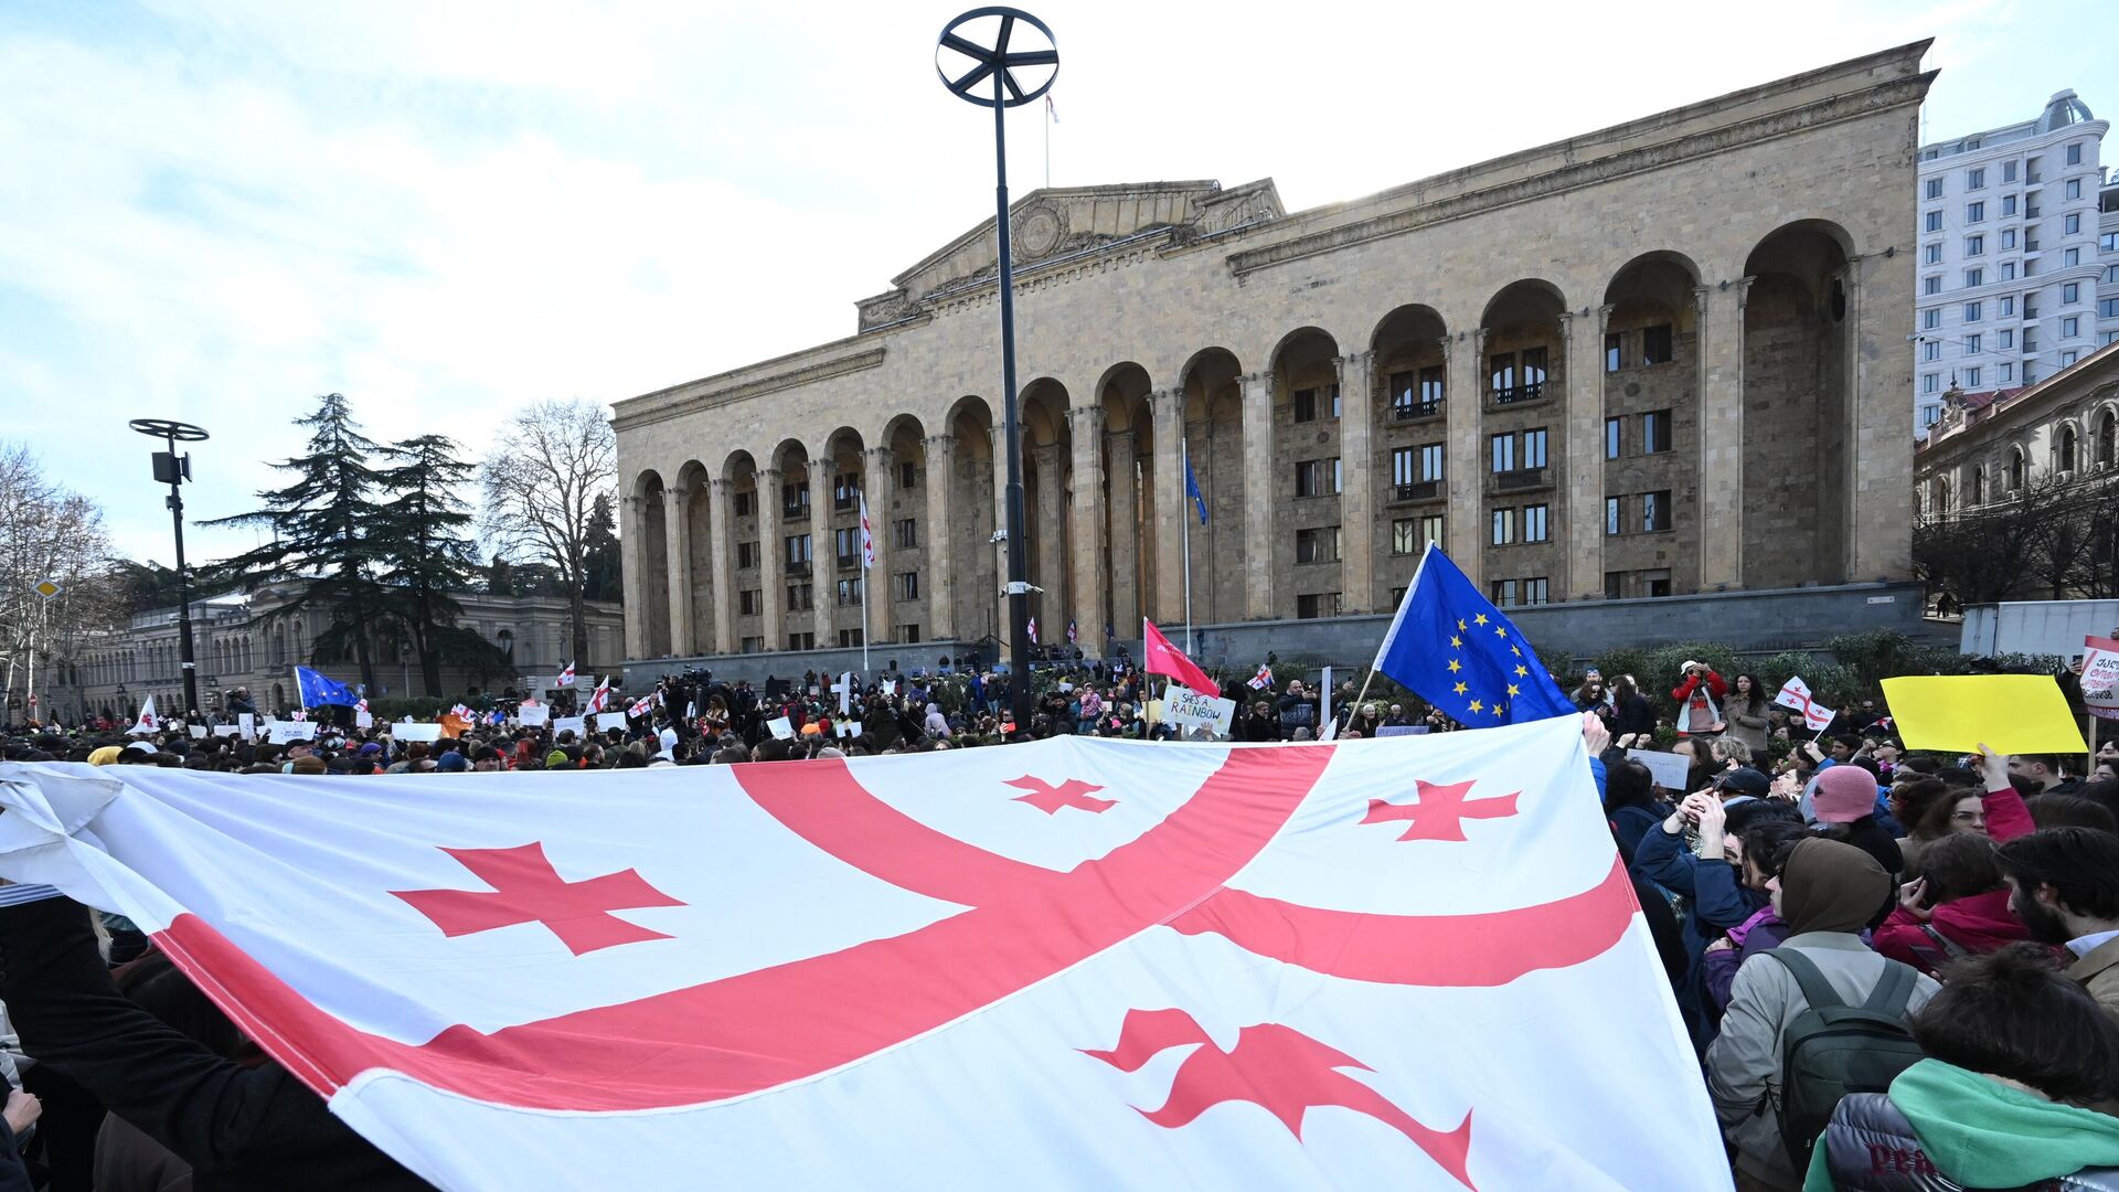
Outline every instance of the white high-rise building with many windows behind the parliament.
<path id="1" fill-rule="evenodd" d="M 2034 121 L 1920 148 L 1913 428 L 1949 390 L 2011 390 L 2119 339 L 2106 121 L 2062 91 Z"/>

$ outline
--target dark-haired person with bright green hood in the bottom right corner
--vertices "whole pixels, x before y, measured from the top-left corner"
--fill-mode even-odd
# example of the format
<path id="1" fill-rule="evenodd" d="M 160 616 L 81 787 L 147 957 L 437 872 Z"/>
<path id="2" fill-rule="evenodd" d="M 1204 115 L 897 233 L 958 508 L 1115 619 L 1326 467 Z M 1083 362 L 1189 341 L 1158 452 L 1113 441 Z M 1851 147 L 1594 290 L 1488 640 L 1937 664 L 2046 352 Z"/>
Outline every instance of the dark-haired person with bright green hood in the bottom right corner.
<path id="1" fill-rule="evenodd" d="M 2119 1188 L 2119 1018 L 2036 944 L 1943 976 L 1911 1018 L 1928 1058 L 1839 1103 L 1803 1192 Z"/>

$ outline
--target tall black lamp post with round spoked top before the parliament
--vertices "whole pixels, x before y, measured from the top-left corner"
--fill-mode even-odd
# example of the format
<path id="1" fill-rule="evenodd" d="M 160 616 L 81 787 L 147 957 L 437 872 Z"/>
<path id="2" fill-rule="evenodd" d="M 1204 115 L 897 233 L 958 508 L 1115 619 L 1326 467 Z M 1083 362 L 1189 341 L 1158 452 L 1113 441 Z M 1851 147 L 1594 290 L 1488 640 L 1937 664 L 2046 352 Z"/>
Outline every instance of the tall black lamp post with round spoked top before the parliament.
<path id="1" fill-rule="evenodd" d="M 981 45 L 985 21 L 998 17 L 992 45 Z M 973 28 L 977 25 L 977 30 Z M 1009 49 L 1032 30 L 1028 49 Z M 956 59 L 951 70 L 945 57 Z M 1009 257 L 1009 134 L 1007 110 L 1032 104 L 1060 76 L 1060 47 L 1045 21 L 1021 8 L 973 8 L 949 21 L 934 49 L 934 72 L 958 100 L 994 108 L 994 235 L 1000 248 L 1000 416 L 1009 452 L 1009 713 L 1017 730 L 1030 728 L 1030 581 L 1023 558 L 1023 456 L 1015 422 L 1015 263 Z M 990 93 L 981 91 L 981 83 Z"/>

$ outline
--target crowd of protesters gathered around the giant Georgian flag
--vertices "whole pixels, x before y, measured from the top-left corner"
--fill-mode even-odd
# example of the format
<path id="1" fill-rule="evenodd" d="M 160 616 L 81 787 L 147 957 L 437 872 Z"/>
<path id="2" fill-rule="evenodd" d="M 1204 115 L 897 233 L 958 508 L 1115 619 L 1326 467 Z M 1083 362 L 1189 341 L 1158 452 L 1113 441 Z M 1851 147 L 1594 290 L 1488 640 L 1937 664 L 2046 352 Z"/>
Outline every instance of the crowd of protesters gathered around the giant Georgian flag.
<path id="1" fill-rule="evenodd" d="M 1229 725 L 1235 740 L 1458 728 L 1396 689 L 1369 700 L 1352 681 L 1318 691 L 1267 674 L 1229 685 L 1246 696 Z M 1028 681 L 1028 723 L 1009 713 L 1011 674 L 943 658 L 911 670 L 890 662 L 862 683 L 665 677 L 612 700 L 631 713 L 606 732 L 526 725 L 521 698 L 502 691 L 432 742 L 396 740 L 390 723 L 352 728 L 333 711 L 314 740 L 284 744 L 212 725 L 201 738 L 172 721 L 150 734 L 38 725 L 8 734 L 4 751 L 11 761 L 358 776 L 1201 734 L 1157 717 L 1163 681 L 1123 658 L 1062 662 Z M 1759 677 L 1725 679 L 1697 662 L 1653 698 L 1630 674 L 1606 683 L 1589 670 L 1570 687 L 1740 1192 L 2119 1190 L 2119 747 L 2104 744 L 2094 766 L 1986 749 L 1909 753 L 1873 704 L 1810 734 L 1769 704 Z M 572 704 L 564 696 L 551 711 Z M 1682 755 L 1687 781 L 1657 785 L 1632 749 Z M 0 1118 L 0 1192 L 34 1188 L 28 1175 L 8 1184 L 8 1171 L 28 1171 L 17 1141 L 40 1109 L 28 1162 L 53 1192 L 184 1186 L 174 1179 L 420 1186 L 129 925 L 91 921 L 64 899 L 6 906 L 4 895 L 0 887 L 0 999 L 23 1035 L 4 1039 L 15 1052 L 6 1075 L 36 1094 L 13 1092 Z M 78 1041 L 78 1056 L 57 1048 L 72 1065 L 40 1065 L 40 1037 L 72 1020 L 53 1005 L 51 974 L 66 965 L 70 997 L 102 999 L 110 1014 L 123 1005 L 136 1037 Z M 150 1058 L 125 1058 L 127 1046 Z"/>

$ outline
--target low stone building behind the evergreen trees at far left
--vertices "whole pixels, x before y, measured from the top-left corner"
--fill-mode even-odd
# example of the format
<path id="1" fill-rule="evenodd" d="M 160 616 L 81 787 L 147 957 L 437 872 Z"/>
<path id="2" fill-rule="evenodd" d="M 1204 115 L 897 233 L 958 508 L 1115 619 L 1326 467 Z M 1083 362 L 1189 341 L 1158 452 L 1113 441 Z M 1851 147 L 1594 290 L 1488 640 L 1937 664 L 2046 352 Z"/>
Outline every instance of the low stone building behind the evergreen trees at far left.
<path id="1" fill-rule="evenodd" d="M 464 615 L 458 626 L 506 651 L 521 677 L 557 674 L 568 662 L 595 683 L 593 674 L 617 674 L 625 636 L 625 617 L 617 604 L 589 602 L 589 658 L 572 660 L 574 624 L 568 602 L 559 596 L 487 596 L 456 592 Z M 301 609 L 284 613 L 286 594 L 265 588 L 248 596 L 218 596 L 191 607 L 193 658 L 199 668 L 199 700 L 220 706 L 220 694 L 250 687 L 259 711 L 292 708 L 301 696 L 295 687 L 295 666 L 316 666 L 309 643 L 328 628 L 328 613 Z M 375 696 L 426 694 L 420 660 L 411 649 L 377 641 Z M 356 683 L 352 664 L 318 666 L 341 683 Z M 125 630 L 102 634 L 81 649 L 78 662 L 51 698 L 61 717 L 106 713 L 129 717 L 148 696 L 155 711 L 174 715 L 184 708 L 182 649 L 178 647 L 176 609 L 140 613 Z M 470 679 L 443 666 L 441 685 L 447 696 L 460 696 Z"/>

